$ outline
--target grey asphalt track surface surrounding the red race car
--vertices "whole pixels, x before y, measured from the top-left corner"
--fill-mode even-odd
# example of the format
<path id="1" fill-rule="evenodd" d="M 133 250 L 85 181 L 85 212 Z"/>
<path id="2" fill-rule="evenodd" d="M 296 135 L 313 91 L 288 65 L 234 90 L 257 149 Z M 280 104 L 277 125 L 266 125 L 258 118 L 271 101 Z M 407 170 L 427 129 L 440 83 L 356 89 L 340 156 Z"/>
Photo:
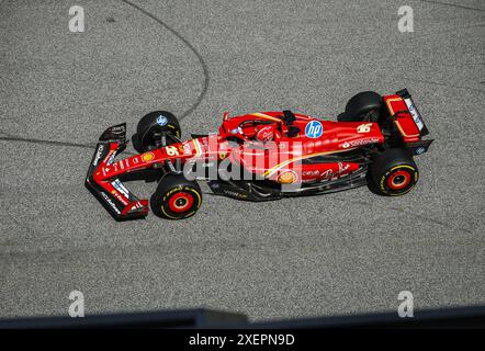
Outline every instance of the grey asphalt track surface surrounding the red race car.
<path id="1" fill-rule="evenodd" d="M 208 307 L 252 320 L 485 304 L 485 2 L 0 1 L 0 316 Z M 409 4 L 415 32 L 397 31 Z M 182 222 L 115 223 L 84 189 L 102 131 L 165 109 L 335 118 L 407 87 L 431 137 L 420 182 L 269 203 L 204 194 Z M 153 183 L 129 183 L 142 197 Z"/>

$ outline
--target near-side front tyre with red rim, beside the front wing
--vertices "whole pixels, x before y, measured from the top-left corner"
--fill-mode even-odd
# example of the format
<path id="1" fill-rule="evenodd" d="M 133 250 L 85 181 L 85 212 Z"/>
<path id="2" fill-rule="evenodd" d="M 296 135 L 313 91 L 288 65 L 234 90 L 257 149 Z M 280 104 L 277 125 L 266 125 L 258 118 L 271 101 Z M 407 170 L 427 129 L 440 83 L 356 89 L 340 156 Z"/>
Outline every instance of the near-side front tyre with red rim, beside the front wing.
<path id="1" fill-rule="evenodd" d="M 167 174 L 158 183 L 150 199 L 154 214 L 166 219 L 184 219 L 193 216 L 202 203 L 202 191 L 196 181 L 182 174 Z"/>

